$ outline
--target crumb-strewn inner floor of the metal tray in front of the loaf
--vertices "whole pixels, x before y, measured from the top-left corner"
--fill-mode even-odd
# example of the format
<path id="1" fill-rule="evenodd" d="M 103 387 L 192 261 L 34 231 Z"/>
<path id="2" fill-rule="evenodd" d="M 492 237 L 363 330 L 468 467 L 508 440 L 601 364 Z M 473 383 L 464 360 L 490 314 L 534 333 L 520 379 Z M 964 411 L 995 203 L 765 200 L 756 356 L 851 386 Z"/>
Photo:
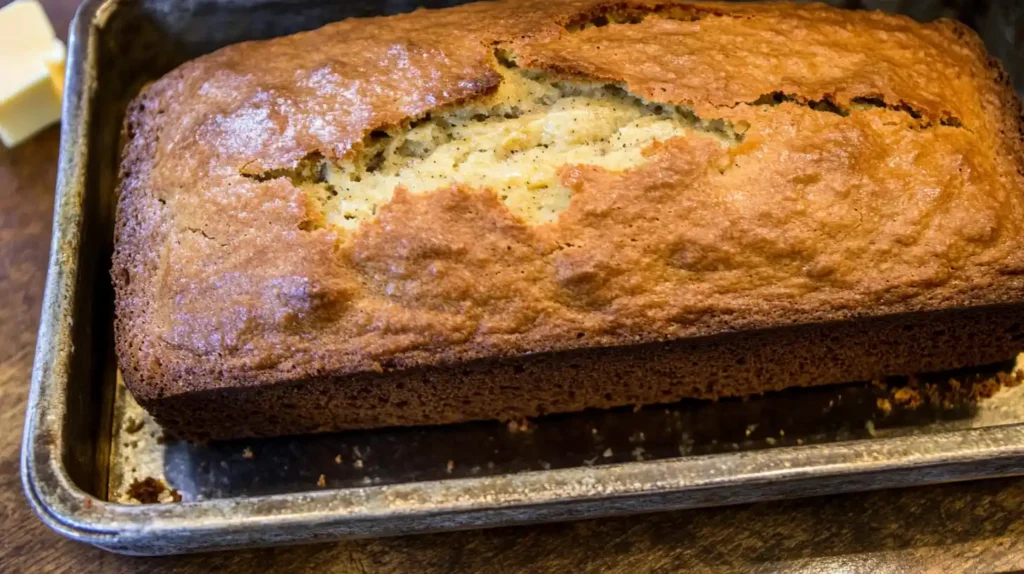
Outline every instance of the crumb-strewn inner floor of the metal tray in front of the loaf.
<path id="1" fill-rule="evenodd" d="M 118 379 L 109 498 L 161 480 L 183 500 L 501 476 L 1024 423 L 1016 363 L 642 409 L 207 444 L 168 440 Z M 911 386 L 913 385 L 913 386 Z M 987 396 L 994 392 L 992 396 Z M 170 501 L 165 497 L 165 501 Z"/>

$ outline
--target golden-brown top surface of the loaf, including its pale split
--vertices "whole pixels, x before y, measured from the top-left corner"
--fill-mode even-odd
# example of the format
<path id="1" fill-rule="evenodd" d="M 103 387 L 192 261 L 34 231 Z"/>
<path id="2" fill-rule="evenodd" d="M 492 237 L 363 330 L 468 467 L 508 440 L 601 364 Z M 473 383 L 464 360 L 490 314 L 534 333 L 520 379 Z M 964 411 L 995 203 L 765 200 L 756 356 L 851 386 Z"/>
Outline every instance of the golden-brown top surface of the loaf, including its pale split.
<path id="1" fill-rule="evenodd" d="M 164 396 L 1020 300 L 1020 116 L 961 25 L 821 5 L 229 46 L 129 108 L 119 359 Z"/>

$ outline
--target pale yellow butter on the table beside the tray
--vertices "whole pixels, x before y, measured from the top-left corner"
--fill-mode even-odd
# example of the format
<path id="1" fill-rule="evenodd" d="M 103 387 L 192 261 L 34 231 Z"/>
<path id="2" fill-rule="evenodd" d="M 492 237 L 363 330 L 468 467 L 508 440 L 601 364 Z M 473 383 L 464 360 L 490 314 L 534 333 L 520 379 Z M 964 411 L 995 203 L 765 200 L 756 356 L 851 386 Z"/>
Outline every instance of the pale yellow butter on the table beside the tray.
<path id="1" fill-rule="evenodd" d="M 0 141 L 17 145 L 60 119 L 65 46 L 36 0 L 0 8 Z"/>

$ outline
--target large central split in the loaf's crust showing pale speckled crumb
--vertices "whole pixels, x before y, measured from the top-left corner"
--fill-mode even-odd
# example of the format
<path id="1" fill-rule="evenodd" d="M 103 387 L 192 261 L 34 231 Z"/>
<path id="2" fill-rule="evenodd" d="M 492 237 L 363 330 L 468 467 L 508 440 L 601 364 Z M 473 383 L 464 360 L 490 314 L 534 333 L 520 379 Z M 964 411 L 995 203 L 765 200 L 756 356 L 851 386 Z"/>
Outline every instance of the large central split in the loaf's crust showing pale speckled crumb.
<path id="1" fill-rule="evenodd" d="M 495 92 L 377 126 L 343 160 L 316 150 L 293 169 L 240 175 L 283 178 L 304 189 L 321 212 L 303 225 L 307 230 L 323 228 L 321 219 L 354 230 L 398 187 L 422 193 L 453 184 L 493 189 L 514 214 L 538 224 L 567 208 L 571 190 L 559 174 L 573 165 L 622 172 L 674 137 L 712 137 L 728 148 L 742 143 L 750 127 L 646 101 L 620 83 L 521 70 L 499 50 L 496 69 L 503 80 Z"/>

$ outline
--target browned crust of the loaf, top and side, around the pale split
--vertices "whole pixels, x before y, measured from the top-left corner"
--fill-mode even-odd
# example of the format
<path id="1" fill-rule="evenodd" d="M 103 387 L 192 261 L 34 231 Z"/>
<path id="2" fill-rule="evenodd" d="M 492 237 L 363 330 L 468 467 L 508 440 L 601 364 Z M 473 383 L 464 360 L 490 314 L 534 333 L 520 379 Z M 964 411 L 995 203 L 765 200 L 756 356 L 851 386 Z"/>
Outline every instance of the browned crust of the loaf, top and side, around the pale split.
<path id="1" fill-rule="evenodd" d="M 543 225 L 453 186 L 397 189 L 349 232 L 287 177 L 485 97 L 502 54 L 742 141 L 565 166 Z M 226 438 L 1009 358 L 1024 164 L 1004 76 L 958 24 L 795 4 L 488 2 L 230 46 L 129 109 L 120 366 L 169 431 Z"/>

